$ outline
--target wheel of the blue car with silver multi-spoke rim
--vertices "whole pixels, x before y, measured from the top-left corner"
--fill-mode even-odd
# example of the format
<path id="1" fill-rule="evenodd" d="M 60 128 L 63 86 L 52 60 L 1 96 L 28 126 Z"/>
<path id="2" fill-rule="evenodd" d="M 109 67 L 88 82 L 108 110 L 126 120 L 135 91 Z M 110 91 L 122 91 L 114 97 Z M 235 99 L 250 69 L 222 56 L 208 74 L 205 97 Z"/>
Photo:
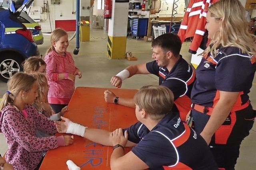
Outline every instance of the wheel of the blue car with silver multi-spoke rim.
<path id="1" fill-rule="evenodd" d="M 3 53 L 0 57 L 0 80 L 7 82 L 14 74 L 23 71 L 24 59 L 16 53 Z"/>

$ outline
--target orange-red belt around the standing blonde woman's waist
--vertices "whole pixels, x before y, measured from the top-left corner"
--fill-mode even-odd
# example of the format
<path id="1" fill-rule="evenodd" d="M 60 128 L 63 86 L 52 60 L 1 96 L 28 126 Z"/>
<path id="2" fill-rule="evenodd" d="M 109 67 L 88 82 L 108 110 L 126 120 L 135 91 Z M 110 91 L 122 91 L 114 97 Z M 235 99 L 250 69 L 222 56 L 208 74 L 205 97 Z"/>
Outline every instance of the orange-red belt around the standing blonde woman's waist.
<path id="1" fill-rule="evenodd" d="M 235 106 L 231 109 L 231 111 L 238 111 L 238 110 L 242 110 L 246 107 L 248 107 L 250 105 L 250 101 L 248 100 L 245 104 L 241 105 L 241 106 Z M 200 113 L 204 113 L 207 115 L 212 115 L 212 111 L 213 111 L 214 107 L 206 107 L 206 106 L 200 106 L 198 104 L 192 104 L 192 109 L 195 109 L 196 111 L 199 111 Z"/>

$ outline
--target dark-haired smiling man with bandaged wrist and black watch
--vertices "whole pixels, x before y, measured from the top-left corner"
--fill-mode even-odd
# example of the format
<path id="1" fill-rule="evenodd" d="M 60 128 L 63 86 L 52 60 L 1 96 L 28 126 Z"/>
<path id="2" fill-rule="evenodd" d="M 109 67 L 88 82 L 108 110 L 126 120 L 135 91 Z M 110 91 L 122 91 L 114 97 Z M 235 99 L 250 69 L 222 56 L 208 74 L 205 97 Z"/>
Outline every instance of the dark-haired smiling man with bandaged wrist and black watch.
<path id="1" fill-rule="evenodd" d="M 154 74 L 159 77 L 159 85 L 166 86 L 174 94 L 173 111 L 179 111 L 182 121 L 191 109 L 190 92 L 195 71 L 180 55 L 181 41 L 177 35 L 166 33 L 152 42 L 154 61 L 128 66 L 111 78 L 113 86 L 120 88 L 122 81 L 135 74 Z M 123 106 L 134 107 L 134 100 L 117 97 L 110 90 L 104 92 L 105 100 Z"/>

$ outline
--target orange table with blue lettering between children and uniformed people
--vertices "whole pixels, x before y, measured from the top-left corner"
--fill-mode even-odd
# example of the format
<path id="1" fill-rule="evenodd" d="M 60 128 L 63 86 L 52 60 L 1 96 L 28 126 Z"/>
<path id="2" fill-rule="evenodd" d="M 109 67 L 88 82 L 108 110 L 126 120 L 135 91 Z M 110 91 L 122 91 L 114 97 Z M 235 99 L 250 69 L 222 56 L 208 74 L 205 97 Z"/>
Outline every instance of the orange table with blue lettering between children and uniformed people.
<path id="1" fill-rule="evenodd" d="M 68 104 L 69 111 L 65 113 L 64 117 L 90 128 L 108 131 L 134 124 L 137 121 L 135 109 L 106 103 L 104 90 L 107 88 L 76 88 Z M 138 91 L 130 89 L 109 90 L 124 98 L 133 98 Z M 130 148 L 125 149 L 126 152 L 129 150 Z M 68 170 L 67 160 L 72 160 L 81 170 L 110 170 L 112 151 L 112 147 L 99 145 L 74 135 L 72 145 L 48 150 L 40 170 Z"/>

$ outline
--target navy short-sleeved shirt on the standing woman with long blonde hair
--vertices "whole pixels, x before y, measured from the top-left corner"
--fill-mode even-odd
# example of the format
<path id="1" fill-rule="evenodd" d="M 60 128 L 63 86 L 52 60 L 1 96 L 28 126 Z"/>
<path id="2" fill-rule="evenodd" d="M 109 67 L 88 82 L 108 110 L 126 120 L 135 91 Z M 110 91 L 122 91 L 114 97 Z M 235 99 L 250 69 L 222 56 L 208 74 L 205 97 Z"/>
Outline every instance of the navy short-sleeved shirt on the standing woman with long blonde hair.
<path id="1" fill-rule="evenodd" d="M 248 93 L 256 70 L 251 57 L 237 47 L 220 47 L 216 57 L 204 57 L 196 69 L 191 100 L 194 104 L 214 107 L 220 99 L 220 91 L 239 92 L 234 107 L 249 100 Z"/>

